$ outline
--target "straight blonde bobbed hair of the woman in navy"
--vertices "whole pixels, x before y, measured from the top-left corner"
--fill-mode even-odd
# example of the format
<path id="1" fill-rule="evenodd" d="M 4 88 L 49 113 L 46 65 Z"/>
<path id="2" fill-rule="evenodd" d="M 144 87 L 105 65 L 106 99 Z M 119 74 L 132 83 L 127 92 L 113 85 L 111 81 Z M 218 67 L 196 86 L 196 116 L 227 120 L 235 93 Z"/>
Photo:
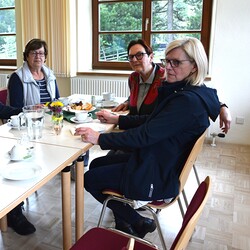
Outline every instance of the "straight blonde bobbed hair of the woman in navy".
<path id="1" fill-rule="evenodd" d="M 190 74 L 186 80 L 191 85 L 202 85 L 208 71 L 208 60 L 201 41 L 194 37 L 174 40 L 167 46 L 165 55 L 176 48 L 181 48 L 197 67 L 197 70 Z"/>

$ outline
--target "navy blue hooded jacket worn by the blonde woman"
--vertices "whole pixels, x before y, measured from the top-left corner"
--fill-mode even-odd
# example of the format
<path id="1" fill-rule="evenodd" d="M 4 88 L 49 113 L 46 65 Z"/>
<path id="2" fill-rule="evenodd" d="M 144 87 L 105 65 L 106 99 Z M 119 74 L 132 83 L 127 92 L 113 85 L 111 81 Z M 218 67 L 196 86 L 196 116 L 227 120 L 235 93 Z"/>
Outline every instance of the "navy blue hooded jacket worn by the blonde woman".
<path id="1" fill-rule="evenodd" d="M 120 116 L 121 133 L 101 134 L 102 149 L 132 150 L 121 191 L 136 200 L 178 194 L 180 171 L 198 137 L 220 112 L 216 90 L 164 83 L 150 116 Z"/>

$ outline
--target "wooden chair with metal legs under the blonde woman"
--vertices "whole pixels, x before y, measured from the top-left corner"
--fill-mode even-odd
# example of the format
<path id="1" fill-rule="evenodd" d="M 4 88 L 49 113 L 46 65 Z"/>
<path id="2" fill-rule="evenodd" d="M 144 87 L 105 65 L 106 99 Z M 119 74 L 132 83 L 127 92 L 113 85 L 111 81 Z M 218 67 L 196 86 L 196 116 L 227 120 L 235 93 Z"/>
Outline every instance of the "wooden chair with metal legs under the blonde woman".
<path id="1" fill-rule="evenodd" d="M 168 206 L 172 205 L 174 202 L 178 201 L 182 217 L 184 217 L 184 209 L 183 209 L 183 206 L 182 206 L 182 203 L 181 203 L 181 200 L 180 200 L 180 195 L 182 193 L 185 205 L 187 207 L 188 206 L 188 200 L 187 200 L 187 197 L 186 197 L 186 194 L 185 194 L 184 186 L 185 186 L 185 184 L 187 182 L 187 179 L 188 179 L 188 176 L 189 176 L 189 174 L 191 172 L 191 169 L 194 166 L 196 158 L 197 158 L 198 154 L 200 153 L 200 151 L 202 149 L 202 145 L 204 143 L 205 136 L 206 136 L 206 131 L 195 142 L 195 144 L 194 144 L 194 146 L 193 146 L 193 148 L 192 148 L 192 150 L 191 150 L 191 152 L 190 152 L 190 154 L 189 154 L 189 156 L 188 156 L 188 158 L 186 160 L 186 163 L 185 163 L 185 165 L 184 165 L 184 167 L 183 167 L 183 169 L 181 171 L 181 174 L 179 176 L 179 182 L 180 182 L 179 194 L 176 197 L 174 197 L 169 203 L 166 203 L 163 200 L 162 201 L 152 201 L 152 202 L 150 202 L 150 203 L 148 203 L 148 204 L 146 204 L 146 205 L 144 205 L 142 207 L 143 209 L 148 210 L 149 212 L 151 212 L 151 214 L 152 214 L 152 216 L 153 216 L 153 218 L 155 220 L 155 223 L 156 223 L 157 231 L 158 231 L 158 234 L 159 234 L 163 249 L 166 249 L 166 245 L 165 245 L 165 241 L 164 241 L 164 238 L 163 238 L 161 226 L 160 226 L 157 215 L 158 215 L 159 211 L 161 211 L 164 208 L 167 208 Z M 134 207 L 134 201 L 133 200 L 125 198 L 121 193 L 118 193 L 115 190 L 104 190 L 103 194 L 108 195 L 108 197 L 103 203 L 101 215 L 100 215 L 98 225 L 97 225 L 98 227 L 100 227 L 101 224 L 102 224 L 102 221 L 103 221 L 103 218 L 104 218 L 104 213 L 105 213 L 108 201 L 117 200 L 117 201 L 120 201 L 120 202 L 123 202 L 123 203 L 127 203 L 127 204 L 131 205 L 132 207 Z"/>

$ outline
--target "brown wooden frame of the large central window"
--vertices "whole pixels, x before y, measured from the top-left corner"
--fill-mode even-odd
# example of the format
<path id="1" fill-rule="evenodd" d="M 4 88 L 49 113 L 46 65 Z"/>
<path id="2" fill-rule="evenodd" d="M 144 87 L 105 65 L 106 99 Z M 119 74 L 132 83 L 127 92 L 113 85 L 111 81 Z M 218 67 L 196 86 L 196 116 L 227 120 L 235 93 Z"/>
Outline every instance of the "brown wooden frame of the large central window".
<path id="1" fill-rule="evenodd" d="M 130 0 L 138 1 L 138 0 Z M 143 2 L 143 13 L 142 13 L 142 22 L 143 24 L 148 18 L 149 24 L 151 24 L 151 0 L 140 0 Z M 93 24 L 93 40 L 92 40 L 92 68 L 93 69 L 109 69 L 109 70 L 131 70 L 131 67 L 128 62 L 110 62 L 110 61 L 99 61 L 99 34 L 108 34 L 108 33 L 115 33 L 115 34 L 124 34 L 124 33 L 138 33 L 142 34 L 142 38 L 150 44 L 150 37 L 151 34 L 159 33 L 157 31 L 151 31 L 149 28 L 147 31 L 144 29 L 144 25 L 142 24 L 142 31 L 139 32 L 99 32 L 99 3 L 114 3 L 114 2 L 126 2 L 126 1 L 118 1 L 118 0 L 92 0 L 92 24 Z M 209 48 L 210 48 L 210 36 L 211 36 L 211 25 L 212 25 L 212 11 L 213 11 L 213 0 L 203 0 L 203 8 L 202 8 L 202 23 L 201 23 L 201 30 L 198 31 L 201 36 L 201 42 L 205 48 L 206 54 L 209 57 Z M 148 25 L 151 27 L 151 25 Z M 195 30 L 197 31 L 197 30 Z M 181 34 L 181 33 L 193 33 L 194 30 L 191 31 L 164 31 L 160 32 L 162 34 Z M 150 44 L 151 45 L 151 44 Z"/>

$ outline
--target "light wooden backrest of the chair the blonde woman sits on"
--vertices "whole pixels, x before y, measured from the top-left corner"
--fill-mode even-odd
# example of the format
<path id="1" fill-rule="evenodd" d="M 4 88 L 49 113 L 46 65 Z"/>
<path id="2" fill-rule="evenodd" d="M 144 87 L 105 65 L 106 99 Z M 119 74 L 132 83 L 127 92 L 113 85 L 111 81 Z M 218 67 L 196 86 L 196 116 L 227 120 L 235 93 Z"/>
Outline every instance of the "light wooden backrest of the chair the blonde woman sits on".
<path id="1" fill-rule="evenodd" d="M 203 132 L 203 134 L 198 138 L 198 140 L 195 142 L 187 160 L 186 163 L 180 173 L 179 176 L 179 181 L 180 181 L 180 187 L 179 187 L 179 193 L 182 192 L 182 190 L 184 189 L 184 186 L 187 182 L 188 176 L 193 168 L 193 165 L 199 155 L 199 153 L 202 150 L 202 145 L 204 143 L 205 137 L 207 134 L 207 129 Z"/>

